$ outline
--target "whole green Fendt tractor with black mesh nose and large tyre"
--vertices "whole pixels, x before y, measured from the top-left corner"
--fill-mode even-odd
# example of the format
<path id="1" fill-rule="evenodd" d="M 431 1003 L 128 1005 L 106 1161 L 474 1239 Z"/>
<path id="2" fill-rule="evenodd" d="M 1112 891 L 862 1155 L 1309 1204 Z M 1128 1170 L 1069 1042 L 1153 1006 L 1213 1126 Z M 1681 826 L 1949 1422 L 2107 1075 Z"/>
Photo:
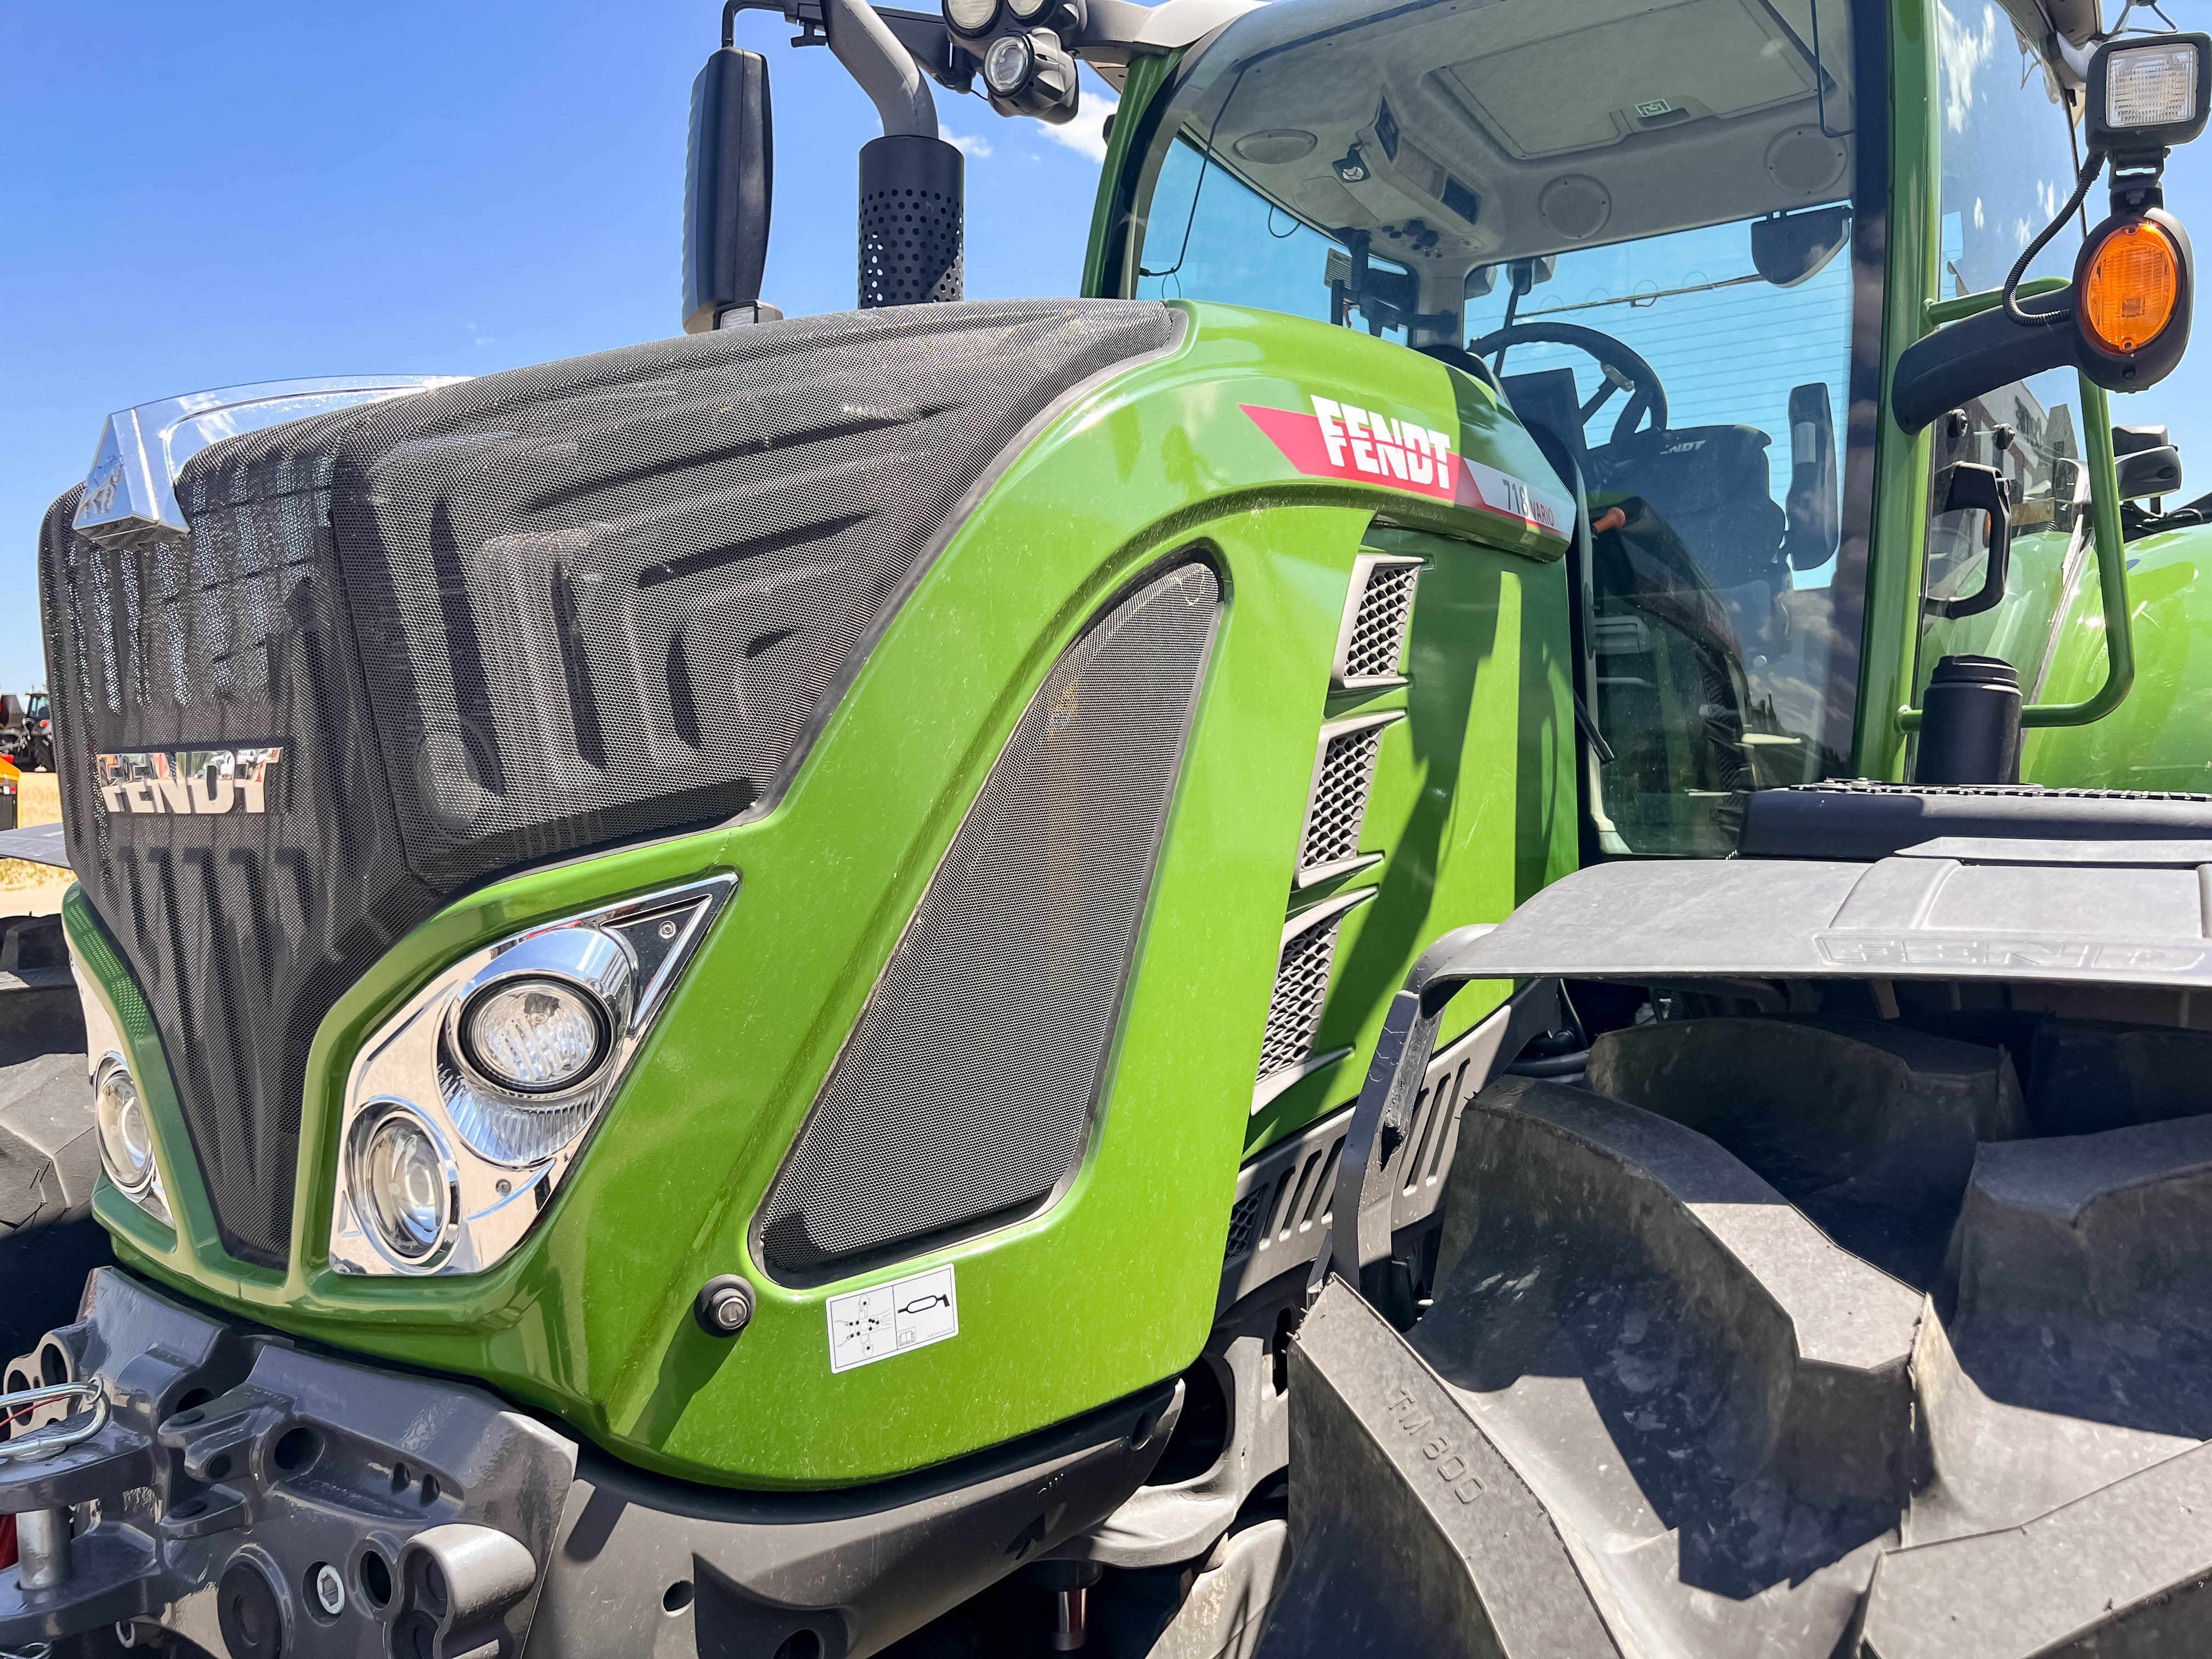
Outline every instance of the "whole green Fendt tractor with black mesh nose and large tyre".
<path id="1" fill-rule="evenodd" d="M 0 1650 L 2212 1646 L 2208 40 L 776 0 L 783 319 L 741 4 L 684 336 L 44 522 Z M 1084 296 L 960 301 L 931 82 L 1077 62 Z"/>

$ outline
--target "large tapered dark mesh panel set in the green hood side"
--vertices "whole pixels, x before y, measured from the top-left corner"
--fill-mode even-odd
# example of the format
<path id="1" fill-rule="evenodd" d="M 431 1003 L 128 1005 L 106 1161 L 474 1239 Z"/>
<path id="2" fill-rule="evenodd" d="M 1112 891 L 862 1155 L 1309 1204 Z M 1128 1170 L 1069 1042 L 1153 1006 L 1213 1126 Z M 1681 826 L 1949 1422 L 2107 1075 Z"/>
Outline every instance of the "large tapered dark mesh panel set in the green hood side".
<path id="1" fill-rule="evenodd" d="M 1024 710 L 768 1192 L 779 1276 L 1020 1214 L 1075 1168 L 1219 604 L 1206 564 L 1148 580 Z"/>

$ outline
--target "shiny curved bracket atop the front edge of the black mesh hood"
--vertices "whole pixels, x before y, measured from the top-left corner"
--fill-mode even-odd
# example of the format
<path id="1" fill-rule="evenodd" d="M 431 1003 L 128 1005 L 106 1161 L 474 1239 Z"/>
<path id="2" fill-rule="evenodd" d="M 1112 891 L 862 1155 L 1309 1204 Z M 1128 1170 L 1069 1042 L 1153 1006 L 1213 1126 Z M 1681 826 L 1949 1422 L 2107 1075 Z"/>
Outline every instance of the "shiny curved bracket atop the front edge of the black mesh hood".
<path id="1" fill-rule="evenodd" d="M 465 374 L 336 374 L 188 392 L 117 409 L 100 431 L 84 476 L 75 531 L 102 546 L 181 542 L 192 531 L 177 507 L 177 471 L 208 445 L 285 420 L 405 398 L 467 380 Z"/>

